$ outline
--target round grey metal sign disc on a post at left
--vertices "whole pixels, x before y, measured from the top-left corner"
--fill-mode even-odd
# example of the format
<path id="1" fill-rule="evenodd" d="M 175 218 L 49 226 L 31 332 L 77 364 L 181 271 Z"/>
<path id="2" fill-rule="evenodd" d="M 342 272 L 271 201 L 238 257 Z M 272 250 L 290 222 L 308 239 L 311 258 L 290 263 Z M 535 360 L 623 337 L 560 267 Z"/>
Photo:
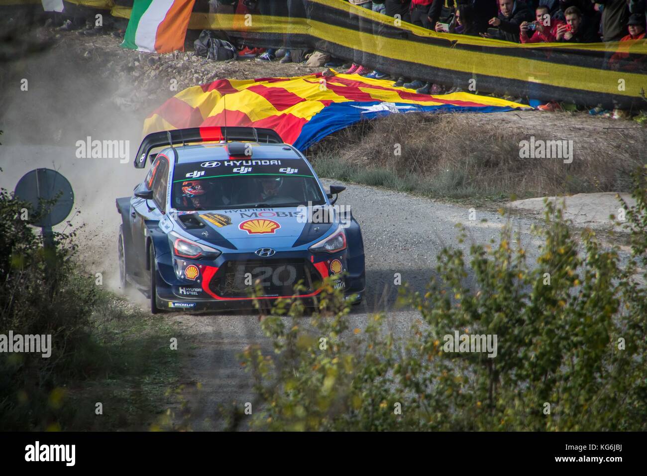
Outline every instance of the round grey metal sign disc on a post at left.
<path id="1" fill-rule="evenodd" d="M 32 210 L 40 212 L 39 199 L 53 200 L 49 213 L 38 220 L 30 220 L 37 227 L 52 227 L 65 220 L 74 206 L 74 192 L 69 181 L 56 170 L 36 168 L 27 172 L 17 183 L 14 196 L 32 204 Z M 47 205 L 46 205 L 47 208 Z"/>

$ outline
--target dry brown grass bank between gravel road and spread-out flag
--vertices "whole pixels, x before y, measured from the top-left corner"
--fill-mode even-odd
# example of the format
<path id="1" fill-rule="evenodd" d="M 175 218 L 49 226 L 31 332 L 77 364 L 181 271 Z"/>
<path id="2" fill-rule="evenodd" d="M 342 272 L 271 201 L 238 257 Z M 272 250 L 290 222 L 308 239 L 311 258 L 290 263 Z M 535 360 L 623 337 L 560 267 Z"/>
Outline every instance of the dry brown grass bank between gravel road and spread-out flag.
<path id="1" fill-rule="evenodd" d="M 588 117 L 567 122 L 569 117 L 575 115 L 553 116 L 550 127 L 529 129 L 521 125 L 523 120 L 510 127 L 509 116 L 499 121 L 478 120 L 470 114 L 391 115 L 339 131 L 313 146 L 309 157 L 323 177 L 435 198 L 508 199 L 628 190 L 631 170 L 647 160 L 646 131 L 628 123 L 630 136 L 615 130 L 602 133 L 606 123 L 593 122 L 600 128 L 596 131 Z M 564 125 L 560 120 L 566 121 Z M 569 133 L 566 125 L 575 122 Z M 573 163 L 521 159 L 520 142 L 531 135 L 535 140 L 572 140 Z"/>

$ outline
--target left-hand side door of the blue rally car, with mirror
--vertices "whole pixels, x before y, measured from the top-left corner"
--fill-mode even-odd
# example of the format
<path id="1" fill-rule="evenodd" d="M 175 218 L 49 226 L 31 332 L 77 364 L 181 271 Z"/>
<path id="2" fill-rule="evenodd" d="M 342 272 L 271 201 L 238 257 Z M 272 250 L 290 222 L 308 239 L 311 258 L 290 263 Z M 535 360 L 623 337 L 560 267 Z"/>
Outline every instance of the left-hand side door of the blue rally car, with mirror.
<path id="1" fill-rule="evenodd" d="M 153 199 L 146 200 L 133 196 L 131 199 L 131 232 L 133 234 L 133 250 L 135 251 L 135 277 L 146 279 L 146 220 L 160 220 L 166 198 L 168 182 L 168 159 L 158 155 L 149 174 L 140 187 L 153 190 Z M 164 190 L 161 192 L 160 190 Z M 159 198 L 162 201 L 159 201 Z M 160 205 L 161 203 L 161 205 Z M 146 284 L 146 282 L 144 282 Z"/>

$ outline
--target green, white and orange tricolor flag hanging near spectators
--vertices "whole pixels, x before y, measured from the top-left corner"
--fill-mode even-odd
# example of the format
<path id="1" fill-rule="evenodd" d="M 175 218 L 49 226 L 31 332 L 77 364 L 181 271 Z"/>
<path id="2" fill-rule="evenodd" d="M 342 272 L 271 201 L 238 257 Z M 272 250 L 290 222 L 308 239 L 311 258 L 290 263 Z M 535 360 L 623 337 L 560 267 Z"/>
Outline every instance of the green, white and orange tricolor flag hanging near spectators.
<path id="1" fill-rule="evenodd" d="M 135 0 L 124 48 L 168 53 L 184 51 L 184 37 L 195 0 Z"/>

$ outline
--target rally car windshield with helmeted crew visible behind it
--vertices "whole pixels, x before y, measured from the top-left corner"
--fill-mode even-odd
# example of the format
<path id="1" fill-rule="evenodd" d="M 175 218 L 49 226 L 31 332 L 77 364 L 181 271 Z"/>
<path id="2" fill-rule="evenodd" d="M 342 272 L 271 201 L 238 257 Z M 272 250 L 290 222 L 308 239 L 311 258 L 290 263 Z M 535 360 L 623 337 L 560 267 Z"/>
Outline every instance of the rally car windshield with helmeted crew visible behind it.
<path id="1" fill-rule="evenodd" d="M 274 167 L 272 171 L 258 167 L 259 173 L 254 173 L 254 167 L 251 169 L 242 167 L 234 172 L 223 167 L 214 173 L 213 167 L 178 165 L 173 172 L 172 206 L 186 211 L 297 207 L 307 206 L 309 202 L 312 205 L 325 203 L 319 183 L 309 168 Z M 281 172 L 276 173 L 278 170 Z M 301 171 L 305 174 L 300 174 Z"/>

